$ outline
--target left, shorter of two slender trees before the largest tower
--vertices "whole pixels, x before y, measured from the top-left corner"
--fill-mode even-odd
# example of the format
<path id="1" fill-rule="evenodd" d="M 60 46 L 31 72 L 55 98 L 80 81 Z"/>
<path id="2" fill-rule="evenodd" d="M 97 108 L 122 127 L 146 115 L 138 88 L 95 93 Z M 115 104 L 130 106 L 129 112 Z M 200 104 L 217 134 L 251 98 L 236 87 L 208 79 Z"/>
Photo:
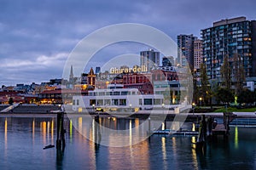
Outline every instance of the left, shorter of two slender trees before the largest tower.
<path id="1" fill-rule="evenodd" d="M 220 74 L 223 78 L 224 86 L 227 89 L 231 88 L 231 69 L 228 56 L 224 57 L 224 63 L 220 67 Z"/>

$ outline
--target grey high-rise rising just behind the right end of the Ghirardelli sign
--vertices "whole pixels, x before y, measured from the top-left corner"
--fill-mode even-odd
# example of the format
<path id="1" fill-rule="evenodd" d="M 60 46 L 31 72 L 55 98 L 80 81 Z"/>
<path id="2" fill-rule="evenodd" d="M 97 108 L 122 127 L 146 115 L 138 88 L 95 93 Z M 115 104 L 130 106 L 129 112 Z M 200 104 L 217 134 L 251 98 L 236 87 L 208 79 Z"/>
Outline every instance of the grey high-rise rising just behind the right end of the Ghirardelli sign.
<path id="1" fill-rule="evenodd" d="M 141 52 L 141 65 L 145 65 L 148 71 L 160 66 L 160 52 L 149 49 Z"/>

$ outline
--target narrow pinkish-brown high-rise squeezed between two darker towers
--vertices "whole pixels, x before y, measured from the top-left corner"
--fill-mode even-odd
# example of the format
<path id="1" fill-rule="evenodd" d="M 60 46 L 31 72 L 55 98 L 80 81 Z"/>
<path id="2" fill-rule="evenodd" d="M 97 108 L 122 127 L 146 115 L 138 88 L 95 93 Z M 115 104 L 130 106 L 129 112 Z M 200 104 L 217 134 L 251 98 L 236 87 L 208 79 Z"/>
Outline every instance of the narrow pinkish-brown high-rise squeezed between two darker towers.
<path id="1" fill-rule="evenodd" d="M 203 51 L 202 51 L 202 41 L 197 39 L 194 41 L 194 70 L 198 71 L 200 65 L 203 62 Z"/>

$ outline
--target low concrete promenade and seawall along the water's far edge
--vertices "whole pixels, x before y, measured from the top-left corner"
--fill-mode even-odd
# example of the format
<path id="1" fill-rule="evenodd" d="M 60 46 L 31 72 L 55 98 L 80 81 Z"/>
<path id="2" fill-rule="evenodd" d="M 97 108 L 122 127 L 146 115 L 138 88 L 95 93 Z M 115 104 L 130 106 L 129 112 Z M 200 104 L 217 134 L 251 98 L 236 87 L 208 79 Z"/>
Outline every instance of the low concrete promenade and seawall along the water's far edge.
<path id="1" fill-rule="evenodd" d="M 8 105 L 0 105 L 0 109 L 8 107 Z M 13 111 L 1 112 L 0 116 L 56 116 L 56 113 L 52 111 L 58 111 L 59 105 L 19 105 Z M 256 118 L 255 112 L 233 112 L 236 118 Z M 68 116 L 82 116 L 88 113 L 78 113 L 73 111 L 67 111 Z M 115 117 L 137 117 L 137 118 L 148 118 L 148 116 L 166 116 L 166 120 L 173 120 L 177 115 L 187 117 L 187 121 L 200 120 L 202 115 L 212 116 L 213 118 L 222 118 L 223 112 L 210 112 L 210 113 L 174 113 L 173 111 L 138 111 L 133 112 L 95 112 L 91 113 L 92 116 L 99 114 L 102 117 L 115 116 Z"/>

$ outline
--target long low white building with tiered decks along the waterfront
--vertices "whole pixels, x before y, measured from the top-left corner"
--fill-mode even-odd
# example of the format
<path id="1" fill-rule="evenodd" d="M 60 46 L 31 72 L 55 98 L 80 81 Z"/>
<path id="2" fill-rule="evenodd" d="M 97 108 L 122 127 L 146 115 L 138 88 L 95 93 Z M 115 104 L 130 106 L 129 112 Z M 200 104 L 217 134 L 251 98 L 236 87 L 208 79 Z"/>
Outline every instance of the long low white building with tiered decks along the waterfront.
<path id="1" fill-rule="evenodd" d="M 150 110 L 163 104 L 162 94 L 140 94 L 137 88 L 96 89 L 88 96 L 73 96 L 73 111 L 87 109 Z"/>

